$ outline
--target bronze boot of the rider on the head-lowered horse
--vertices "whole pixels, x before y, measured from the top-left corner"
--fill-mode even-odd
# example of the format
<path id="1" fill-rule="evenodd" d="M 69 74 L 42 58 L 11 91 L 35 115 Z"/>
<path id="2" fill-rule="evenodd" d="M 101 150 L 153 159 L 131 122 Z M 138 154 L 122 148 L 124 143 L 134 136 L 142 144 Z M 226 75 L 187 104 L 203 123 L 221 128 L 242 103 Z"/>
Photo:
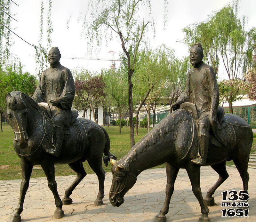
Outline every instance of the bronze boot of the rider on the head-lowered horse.
<path id="1" fill-rule="evenodd" d="M 191 160 L 192 162 L 198 165 L 204 165 L 206 163 L 208 146 L 209 146 L 209 137 L 201 135 L 198 137 L 199 140 L 199 153 L 195 159 Z"/>

